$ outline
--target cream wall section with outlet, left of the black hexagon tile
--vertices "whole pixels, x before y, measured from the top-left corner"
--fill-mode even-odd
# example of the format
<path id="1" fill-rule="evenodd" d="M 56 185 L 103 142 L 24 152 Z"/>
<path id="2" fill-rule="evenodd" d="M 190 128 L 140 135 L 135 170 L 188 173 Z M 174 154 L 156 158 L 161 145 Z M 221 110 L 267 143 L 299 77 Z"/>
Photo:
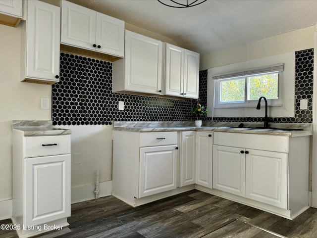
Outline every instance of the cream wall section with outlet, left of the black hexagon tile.
<path id="1" fill-rule="evenodd" d="M 51 120 L 40 109 L 40 97 L 51 98 L 51 86 L 22 83 L 21 29 L 0 25 L 0 201 L 12 197 L 12 120 Z"/>

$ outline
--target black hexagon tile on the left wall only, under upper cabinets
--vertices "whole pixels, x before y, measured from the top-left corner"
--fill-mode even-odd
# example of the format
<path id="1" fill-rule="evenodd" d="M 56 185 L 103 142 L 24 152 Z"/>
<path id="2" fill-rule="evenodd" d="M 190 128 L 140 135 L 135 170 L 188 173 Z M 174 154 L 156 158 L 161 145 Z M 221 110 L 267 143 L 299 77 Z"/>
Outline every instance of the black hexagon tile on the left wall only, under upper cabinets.
<path id="1" fill-rule="evenodd" d="M 54 125 L 108 125 L 110 121 L 189 121 L 195 100 L 112 93 L 112 63 L 61 53 L 60 81 L 52 87 Z M 118 110 L 124 101 L 124 110 Z"/>

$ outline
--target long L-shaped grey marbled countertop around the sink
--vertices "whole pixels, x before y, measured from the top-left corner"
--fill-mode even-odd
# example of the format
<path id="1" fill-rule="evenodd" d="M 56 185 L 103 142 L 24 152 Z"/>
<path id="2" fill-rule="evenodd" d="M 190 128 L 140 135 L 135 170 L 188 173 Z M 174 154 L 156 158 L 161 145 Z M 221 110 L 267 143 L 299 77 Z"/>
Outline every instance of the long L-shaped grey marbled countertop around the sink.
<path id="1" fill-rule="evenodd" d="M 227 122 L 206 122 L 203 126 L 196 127 L 194 122 L 158 122 L 158 121 L 115 121 L 113 130 L 129 131 L 129 132 L 168 132 L 168 131 L 207 131 L 207 132 L 228 132 L 228 133 L 245 133 L 259 135 L 275 135 L 300 137 L 311 136 L 311 123 L 271 123 L 271 127 L 287 128 L 287 129 L 303 129 L 302 131 L 268 131 L 268 130 L 250 130 L 241 128 L 223 128 L 238 127 L 240 123 Z M 260 127 L 263 123 L 244 123 L 245 127 Z"/>

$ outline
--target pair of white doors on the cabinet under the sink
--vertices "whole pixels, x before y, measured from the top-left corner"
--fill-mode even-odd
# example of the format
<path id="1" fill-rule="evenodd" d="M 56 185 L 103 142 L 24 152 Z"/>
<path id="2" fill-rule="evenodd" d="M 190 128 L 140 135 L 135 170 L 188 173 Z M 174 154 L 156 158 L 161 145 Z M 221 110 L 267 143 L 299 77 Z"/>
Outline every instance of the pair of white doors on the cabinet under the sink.
<path id="1" fill-rule="evenodd" d="M 285 208 L 288 155 L 213 146 L 213 189 Z"/>

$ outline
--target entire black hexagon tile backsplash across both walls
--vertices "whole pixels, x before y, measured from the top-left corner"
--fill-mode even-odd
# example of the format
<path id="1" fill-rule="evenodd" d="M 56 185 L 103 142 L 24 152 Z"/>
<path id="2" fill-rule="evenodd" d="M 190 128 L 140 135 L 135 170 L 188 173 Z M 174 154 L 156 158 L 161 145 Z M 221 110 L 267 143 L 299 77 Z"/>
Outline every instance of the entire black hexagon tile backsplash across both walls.
<path id="1" fill-rule="evenodd" d="M 295 52 L 295 117 L 275 117 L 273 122 L 312 122 L 314 50 Z M 199 95 L 207 102 L 207 70 L 200 72 Z M 300 99 L 308 110 L 300 110 Z M 124 110 L 118 110 L 124 101 Z M 108 125 L 110 121 L 189 121 L 196 100 L 112 93 L 112 63 L 60 53 L 60 81 L 52 86 L 54 125 Z M 263 117 L 214 117 L 213 121 L 261 122 Z M 205 117 L 204 121 L 211 121 Z"/>

